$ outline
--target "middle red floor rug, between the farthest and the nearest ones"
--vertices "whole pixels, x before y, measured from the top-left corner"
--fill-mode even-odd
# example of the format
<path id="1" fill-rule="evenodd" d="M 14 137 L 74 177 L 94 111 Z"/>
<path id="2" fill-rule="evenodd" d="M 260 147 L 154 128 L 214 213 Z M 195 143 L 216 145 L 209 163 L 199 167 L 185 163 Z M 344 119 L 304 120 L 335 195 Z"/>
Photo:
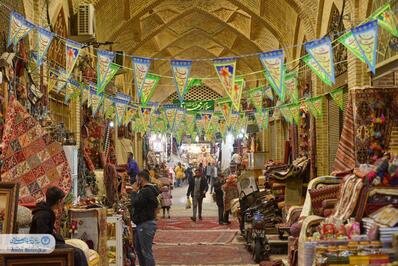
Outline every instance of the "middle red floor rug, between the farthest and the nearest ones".
<path id="1" fill-rule="evenodd" d="M 238 234 L 236 230 L 158 230 L 155 244 L 170 245 L 199 245 L 199 244 L 228 244 Z"/>

